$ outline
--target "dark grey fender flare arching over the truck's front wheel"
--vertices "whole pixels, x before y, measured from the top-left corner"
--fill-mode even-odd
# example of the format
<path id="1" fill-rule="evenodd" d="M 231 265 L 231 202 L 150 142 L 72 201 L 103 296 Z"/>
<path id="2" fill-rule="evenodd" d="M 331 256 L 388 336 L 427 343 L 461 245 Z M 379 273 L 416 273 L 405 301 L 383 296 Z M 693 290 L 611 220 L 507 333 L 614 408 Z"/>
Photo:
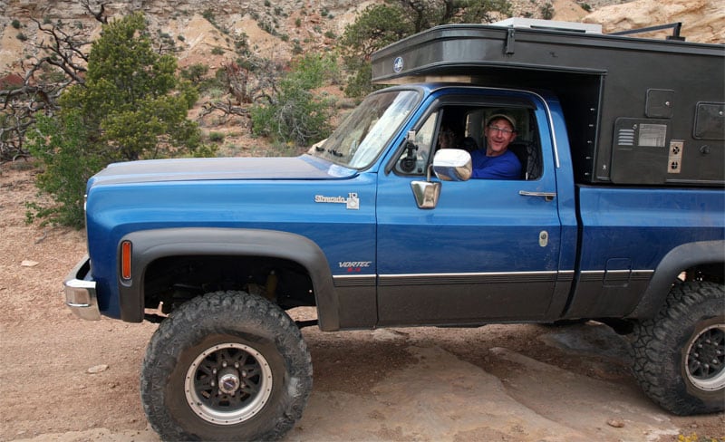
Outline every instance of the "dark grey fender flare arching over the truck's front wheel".
<path id="1" fill-rule="evenodd" d="M 121 319 L 143 321 L 144 276 L 149 264 L 169 256 L 228 255 L 283 258 L 302 265 L 314 287 L 319 327 L 323 331 L 340 328 L 339 301 L 327 257 L 312 240 L 289 232 L 264 229 L 182 227 L 142 230 L 124 235 L 131 241 L 131 283 L 119 280 Z"/>

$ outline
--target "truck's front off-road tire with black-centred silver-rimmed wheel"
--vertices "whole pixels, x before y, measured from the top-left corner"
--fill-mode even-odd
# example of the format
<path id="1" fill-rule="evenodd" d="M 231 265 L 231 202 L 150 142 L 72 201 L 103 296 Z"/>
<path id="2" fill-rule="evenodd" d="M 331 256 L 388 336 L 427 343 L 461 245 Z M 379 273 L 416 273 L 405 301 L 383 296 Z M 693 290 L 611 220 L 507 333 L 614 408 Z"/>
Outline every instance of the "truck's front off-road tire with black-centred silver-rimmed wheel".
<path id="1" fill-rule="evenodd" d="M 255 385 L 243 378 L 246 370 L 227 369 L 226 360 L 251 366 Z M 231 384 L 220 383 L 220 374 L 208 376 L 209 364 L 221 368 L 222 361 L 235 373 L 227 376 Z M 241 387 L 234 389 L 235 382 Z M 223 385 L 235 392 L 222 397 Z M 243 391 L 256 387 L 257 393 Z M 312 361 L 295 322 L 275 304 L 244 292 L 208 293 L 161 322 L 143 360 L 140 389 L 150 425 L 163 440 L 274 440 L 302 417 Z M 240 405 L 240 397 L 249 403 Z"/>

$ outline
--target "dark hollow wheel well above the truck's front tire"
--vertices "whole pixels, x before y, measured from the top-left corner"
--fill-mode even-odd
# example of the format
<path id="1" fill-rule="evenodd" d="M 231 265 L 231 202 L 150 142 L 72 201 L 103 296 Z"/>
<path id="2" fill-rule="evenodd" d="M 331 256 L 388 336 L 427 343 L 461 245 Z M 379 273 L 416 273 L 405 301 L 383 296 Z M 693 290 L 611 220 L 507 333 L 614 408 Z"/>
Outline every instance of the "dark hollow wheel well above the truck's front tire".
<path id="1" fill-rule="evenodd" d="M 183 255 L 161 257 L 143 275 L 147 319 L 174 311 L 204 293 L 240 290 L 287 310 L 313 306 L 313 283 L 294 261 L 269 256 Z M 160 314 L 159 314 L 160 313 Z"/>

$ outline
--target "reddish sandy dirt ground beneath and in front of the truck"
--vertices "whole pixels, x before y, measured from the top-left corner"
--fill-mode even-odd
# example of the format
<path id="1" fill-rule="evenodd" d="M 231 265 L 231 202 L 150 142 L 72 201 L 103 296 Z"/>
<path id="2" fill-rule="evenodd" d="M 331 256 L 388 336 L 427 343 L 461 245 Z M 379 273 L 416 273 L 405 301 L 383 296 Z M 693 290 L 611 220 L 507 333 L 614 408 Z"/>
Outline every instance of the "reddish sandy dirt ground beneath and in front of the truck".
<path id="1" fill-rule="evenodd" d="M 33 174 L 0 169 L 0 440 L 158 441 L 139 395 L 156 326 L 65 308 L 61 283 L 85 240 L 24 224 Z M 725 440 L 722 414 L 678 418 L 644 397 L 626 341 L 595 322 L 304 337 L 314 390 L 287 441 Z"/>

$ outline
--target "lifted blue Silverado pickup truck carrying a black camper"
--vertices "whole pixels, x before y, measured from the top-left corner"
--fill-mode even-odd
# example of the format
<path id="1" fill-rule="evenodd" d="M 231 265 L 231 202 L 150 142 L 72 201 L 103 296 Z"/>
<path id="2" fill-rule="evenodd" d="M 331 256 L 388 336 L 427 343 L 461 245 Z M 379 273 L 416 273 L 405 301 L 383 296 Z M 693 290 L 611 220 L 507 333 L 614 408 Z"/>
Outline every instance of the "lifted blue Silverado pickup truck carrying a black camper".
<path id="1" fill-rule="evenodd" d="M 373 56 L 394 85 L 305 155 L 94 176 L 66 303 L 160 322 L 141 399 L 164 439 L 292 428 L 312 388 L 299 306 L 323 331 L 596 320 L 631 336 L 663 408 L 721 411 L 723 61 L 590 29 L 414 35 Z M 472 178 L 491 131 L 516 176 Z"/>

